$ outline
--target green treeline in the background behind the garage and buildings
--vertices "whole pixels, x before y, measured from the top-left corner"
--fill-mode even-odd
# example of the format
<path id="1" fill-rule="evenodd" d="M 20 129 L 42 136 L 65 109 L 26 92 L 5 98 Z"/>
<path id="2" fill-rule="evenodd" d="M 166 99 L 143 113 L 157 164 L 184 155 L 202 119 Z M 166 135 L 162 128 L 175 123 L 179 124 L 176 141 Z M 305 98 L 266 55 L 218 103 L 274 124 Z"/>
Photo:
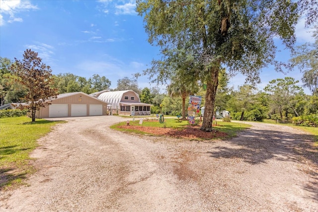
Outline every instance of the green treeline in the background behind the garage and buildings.
<path id="1" fill-rule="evenodd" d="M 20 102 L 27 90 L 13 80 L 9 70 L 9 59 L 0 58 L 0 105 L 11 102 Z M 134 90 L 144 103 L 150 103 L 152 113 L 167 115 L 182 115 L 182 106 L 187 107 L 189 101 L 186 95 L 182 101 L 183 92 L 179 84 L 171 83 L 167 86 L 167 93 L 160 93 L 158 87 L 139 88 L 136 79 L 124 77 L 117 80 L 117 87 L 110 89 L 111 81 L 105 76 L 93 74 L 86 79 L 73 73 L 60 73 L 53 75 L 54 86 L 58 93 L 81 91 L 87 94 L 101 90 Z M 299 125 L 317 126 L 318 95 L 317 90 L 312 95 L 304 93 L 298 86 L 297 80 L 292 77 L 273 79 L 264 88 L 257 90 L 251 85 L 243 85 L 238 89 L 228 87 L 229 77 L 225 71 L 220 75 L 220 83 L 215 100 L 216 110 L 228 110 L 232 119 L 242 121 L 263 121 L 273 119 L 277 122 Z M 204 86 L 197 84 L 194 95 L 202 96 L 201 106 L 205 103 Z M 184 103 L 185 102 L 185 103 Z M 294 117 L 297 117 L 294 118 Z"/>

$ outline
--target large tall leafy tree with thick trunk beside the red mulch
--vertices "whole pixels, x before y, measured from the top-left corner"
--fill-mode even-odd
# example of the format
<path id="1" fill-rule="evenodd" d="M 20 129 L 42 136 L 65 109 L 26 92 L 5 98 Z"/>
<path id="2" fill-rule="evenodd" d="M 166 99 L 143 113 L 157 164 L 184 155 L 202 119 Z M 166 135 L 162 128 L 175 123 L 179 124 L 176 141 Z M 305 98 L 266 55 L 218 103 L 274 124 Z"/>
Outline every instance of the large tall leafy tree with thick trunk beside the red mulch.
<path id="1" fill-rule="evenodd" d="M 267 64 L 281 70 L 273 39 L 292 48 L 299 18 L 297 2 L 290 0 L 137 0 L 137 11 L 144 17 L 149 42 L 159 45 L 163 56 L 179 46 L 194 53 L 196 74 L 207 84 L 204 131 L 212 131 L 219 71 L 226 67 L 259 82 L 259 71 Z M 169 77 L 160 68 L 152 74 Z"/>

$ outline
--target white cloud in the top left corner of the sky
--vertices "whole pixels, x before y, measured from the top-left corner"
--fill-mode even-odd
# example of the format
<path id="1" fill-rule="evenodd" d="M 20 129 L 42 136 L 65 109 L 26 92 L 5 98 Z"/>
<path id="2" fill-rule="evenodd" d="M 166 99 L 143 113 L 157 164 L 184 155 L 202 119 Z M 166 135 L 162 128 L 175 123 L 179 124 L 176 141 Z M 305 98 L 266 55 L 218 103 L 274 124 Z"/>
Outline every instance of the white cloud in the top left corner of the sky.
<path id="1" fill-rule="evenodd" d="M 0 0 L 0 26 L 4 25 L 5 22 L 22 22 L 23 19 L 21 17 L 16 17 L 17 13 L 36 9 L 38 7 L 31 4 L 28 0 Z"/>

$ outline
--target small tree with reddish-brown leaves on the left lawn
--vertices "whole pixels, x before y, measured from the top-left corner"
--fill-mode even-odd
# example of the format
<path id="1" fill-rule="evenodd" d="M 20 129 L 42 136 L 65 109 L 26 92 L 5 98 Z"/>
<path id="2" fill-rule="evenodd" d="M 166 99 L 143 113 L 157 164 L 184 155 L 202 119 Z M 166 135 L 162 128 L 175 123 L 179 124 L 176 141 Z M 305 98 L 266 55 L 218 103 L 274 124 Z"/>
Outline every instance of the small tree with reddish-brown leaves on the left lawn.
<path id="1" fill-rule="evenodd" d="M 15 58 L 15 63 L 11 65 L 10 70 L 14 80 L 27 89 L 23 100 L 28 103 L 25 107 L 30 109 L 32 122 L 34 122 L 36 110 L 47 106 L 47 100 L 57 97 L 57 89 L 53 88 L 52 70 L 43 64 L 38 53 L 31 49 L 24 52 L 22 61 Z"/>

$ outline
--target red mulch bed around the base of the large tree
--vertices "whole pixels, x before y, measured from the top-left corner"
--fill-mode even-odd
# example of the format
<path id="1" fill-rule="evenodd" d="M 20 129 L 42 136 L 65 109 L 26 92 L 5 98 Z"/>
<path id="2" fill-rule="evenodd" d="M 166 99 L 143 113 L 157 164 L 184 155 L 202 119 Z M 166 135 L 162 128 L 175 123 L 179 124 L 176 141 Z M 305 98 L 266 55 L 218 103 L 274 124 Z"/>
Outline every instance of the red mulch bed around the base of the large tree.
<path id="1" fill-rule="evenodd" d="M 143 127 L 138 125 L 130 125 L 130 126 L 120 126 L 122 129 L 132 129 L 138 130 L 142 132 L 146 132 L 153 135 L 158 136 L 168 136 L 173 138 L 183 138 L 183 139 L 215 139 L 215 138 L 224 138 L 227 137 L 228 134 L 213 131 L 213 132 L 204 132 L 200 130 L 200 126 L 188 126 L 182 130 L 180 129 L 172 129 L 172 128 L 158 128 L 158 127 Z"/>

